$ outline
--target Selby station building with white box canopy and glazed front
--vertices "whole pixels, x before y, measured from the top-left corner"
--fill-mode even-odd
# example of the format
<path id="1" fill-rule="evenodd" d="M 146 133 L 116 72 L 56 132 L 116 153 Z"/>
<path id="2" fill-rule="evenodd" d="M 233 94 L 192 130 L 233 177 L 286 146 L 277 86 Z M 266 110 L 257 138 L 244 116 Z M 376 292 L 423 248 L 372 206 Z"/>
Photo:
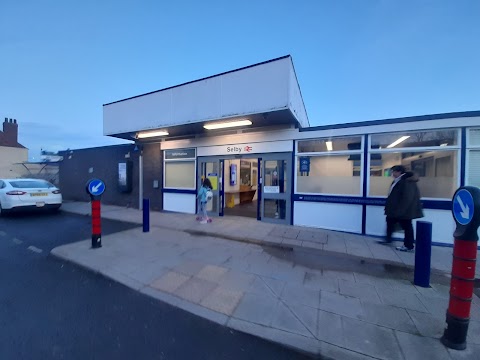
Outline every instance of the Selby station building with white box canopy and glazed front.
<path id="1" fill-rule="evenodd" d="M 311 127 L 290 56 L 105 104 L 103 122 L 135 141 L 138 162 L 116 166 L 138 207 L 194 214 L 208 177 L 212 216 L 382 236 L 401 164 L 420 176 L 433 242 L 450 245 L 455 190 L 480 186 L 480 111 Z"/>

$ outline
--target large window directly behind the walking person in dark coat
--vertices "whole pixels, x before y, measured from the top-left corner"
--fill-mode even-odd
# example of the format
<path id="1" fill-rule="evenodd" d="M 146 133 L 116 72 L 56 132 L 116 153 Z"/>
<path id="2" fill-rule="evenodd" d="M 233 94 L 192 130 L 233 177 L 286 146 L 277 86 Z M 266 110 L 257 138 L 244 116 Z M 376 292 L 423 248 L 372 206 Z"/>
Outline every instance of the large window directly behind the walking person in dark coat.
<path id="1" fill-rule="evenodd" d="M 458 135 L 450 129 L 371 135 L 369 195 L 387 196 L 390 168 L 403 165 L 419 176 L 422 197 L 451 199 L 459 183 Z"/>

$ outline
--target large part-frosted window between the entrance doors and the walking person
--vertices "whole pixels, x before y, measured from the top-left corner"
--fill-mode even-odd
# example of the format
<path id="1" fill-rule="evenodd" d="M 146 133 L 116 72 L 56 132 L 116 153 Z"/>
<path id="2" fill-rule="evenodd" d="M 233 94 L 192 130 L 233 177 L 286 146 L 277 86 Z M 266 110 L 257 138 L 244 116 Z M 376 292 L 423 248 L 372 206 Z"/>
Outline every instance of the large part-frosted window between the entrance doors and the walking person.
<path id="1" fill-rule="evenodd" d="M 301 140 L 298 153 L 297 193 L 361 195 L 360 136 Z"/>

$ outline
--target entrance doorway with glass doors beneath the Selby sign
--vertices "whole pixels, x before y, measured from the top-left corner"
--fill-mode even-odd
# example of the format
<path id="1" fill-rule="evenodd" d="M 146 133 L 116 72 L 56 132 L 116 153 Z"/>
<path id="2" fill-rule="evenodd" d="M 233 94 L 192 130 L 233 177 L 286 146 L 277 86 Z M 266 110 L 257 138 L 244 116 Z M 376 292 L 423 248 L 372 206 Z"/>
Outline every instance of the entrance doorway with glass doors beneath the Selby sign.
<path id="1" fill-rule="evenodd" d="M 198 186 L 208 177 L 211 216 L 243 216 L 291 224 L 292 156 L 289 153 L 198 158 Z"/>

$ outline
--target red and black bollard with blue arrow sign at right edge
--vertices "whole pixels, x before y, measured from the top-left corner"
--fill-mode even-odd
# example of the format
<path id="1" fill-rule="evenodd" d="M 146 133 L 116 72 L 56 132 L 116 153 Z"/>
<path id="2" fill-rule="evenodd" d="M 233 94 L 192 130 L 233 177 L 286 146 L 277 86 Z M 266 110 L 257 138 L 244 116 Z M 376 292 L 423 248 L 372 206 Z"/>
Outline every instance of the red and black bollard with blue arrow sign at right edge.
<path id="1" fill-rule="evenodd" d="M 440 341 L 445 346 L 464 350 L 470 322 L 470 307 L 477 261 L 477 229 L 480 224 L 480 189 L 459 188 L 452 200 L 453 218 L 457 228 L 453 233 L 452 279 L 447 310 L 447 328 Z"/>

